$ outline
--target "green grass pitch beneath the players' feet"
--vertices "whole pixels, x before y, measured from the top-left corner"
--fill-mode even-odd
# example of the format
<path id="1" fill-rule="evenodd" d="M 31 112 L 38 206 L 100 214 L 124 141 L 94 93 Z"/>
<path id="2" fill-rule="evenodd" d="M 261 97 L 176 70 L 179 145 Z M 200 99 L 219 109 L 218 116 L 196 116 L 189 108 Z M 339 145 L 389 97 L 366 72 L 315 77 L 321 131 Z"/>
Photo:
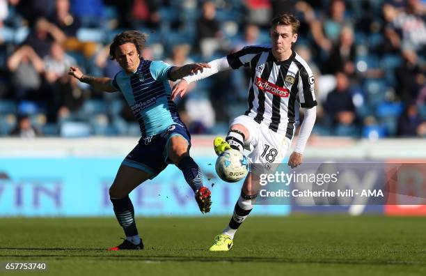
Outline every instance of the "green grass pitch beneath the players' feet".
<path id="1" fill-rule="evenodd" d="M 31 275 L 426 275 L 423 217 L 248 217 L 230 252 L 208 252 L 228 220 L 141 217 L 145 250 L 107 252 L 123 236 L 113 218 L 1 218 L 0 262 L 48 263 Z"/>

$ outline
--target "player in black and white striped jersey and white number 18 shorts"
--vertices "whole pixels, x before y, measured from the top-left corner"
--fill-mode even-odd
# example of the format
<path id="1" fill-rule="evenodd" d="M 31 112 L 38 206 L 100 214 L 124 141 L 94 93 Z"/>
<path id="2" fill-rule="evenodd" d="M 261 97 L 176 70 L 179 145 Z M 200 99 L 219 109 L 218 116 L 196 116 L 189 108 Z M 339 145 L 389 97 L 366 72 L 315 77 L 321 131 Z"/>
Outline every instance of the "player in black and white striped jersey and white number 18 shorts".
<path id="1" fill-rule="evenodd" d="M 248 84 L 248 109 L 232 121 L 226 139 L 214 139 L 214 150 L 219 155 L 228 148 L 251 151 L 247 156 L 251 169 L 259 166 L 274 171 L 283 162 L 292 143 L 299 121 L 299 107 L 304 108 L 299 139 L 288 164 L 293 168 L 302 162 L 306 141 L 315 123 L 316 105 L 314 76 L 306 61 L 292 50 L 297 40 L 299 20 L 283 14 L 271 21 L 271 45 L 247 46 L 222 59 L 211 61 L 210 68 L 199 74 L 184 77 L 173 87 L 172 97 L 184 95 L 191 82 L 209 77 L 228 68 L 248 66 L 251 79 Z M 210 251 L 228 251 L 235 232 L 253 209 L 258 185 L 248 173 L 241 195 L 235 204 L 228 226 L 216 236 Z"/>

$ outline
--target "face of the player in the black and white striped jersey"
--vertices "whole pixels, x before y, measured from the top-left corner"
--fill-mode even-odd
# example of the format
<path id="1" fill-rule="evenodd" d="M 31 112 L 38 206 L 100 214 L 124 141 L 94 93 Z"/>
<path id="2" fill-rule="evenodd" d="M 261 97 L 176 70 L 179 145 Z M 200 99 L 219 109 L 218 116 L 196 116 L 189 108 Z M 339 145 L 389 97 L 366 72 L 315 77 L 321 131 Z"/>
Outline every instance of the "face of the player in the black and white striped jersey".
<path id="1" fill-rule="evenodd" d="M 276 25 L 271 29 L 272 50 L 277 54 L 285 54 L 297 40 L 297 33 L 293 33 L 292 26 Z"/>

